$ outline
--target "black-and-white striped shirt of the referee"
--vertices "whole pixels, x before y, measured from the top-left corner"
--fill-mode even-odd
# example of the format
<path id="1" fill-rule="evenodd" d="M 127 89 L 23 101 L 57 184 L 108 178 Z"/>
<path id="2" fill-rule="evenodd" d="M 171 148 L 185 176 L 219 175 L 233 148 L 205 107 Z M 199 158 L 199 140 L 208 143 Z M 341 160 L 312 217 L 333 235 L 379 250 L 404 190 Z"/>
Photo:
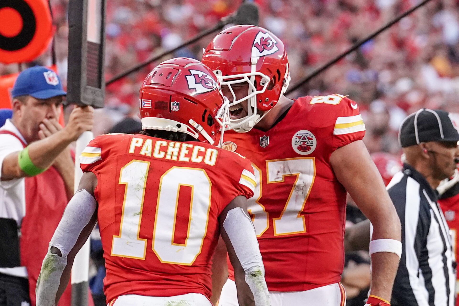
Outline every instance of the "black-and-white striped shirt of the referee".
<path id="1" fill-rule="evenodd" d="M 408 164 L 387 188 L 402 224 L 392 306 L 454 306 L 454 257 L 437 191 Z"/>

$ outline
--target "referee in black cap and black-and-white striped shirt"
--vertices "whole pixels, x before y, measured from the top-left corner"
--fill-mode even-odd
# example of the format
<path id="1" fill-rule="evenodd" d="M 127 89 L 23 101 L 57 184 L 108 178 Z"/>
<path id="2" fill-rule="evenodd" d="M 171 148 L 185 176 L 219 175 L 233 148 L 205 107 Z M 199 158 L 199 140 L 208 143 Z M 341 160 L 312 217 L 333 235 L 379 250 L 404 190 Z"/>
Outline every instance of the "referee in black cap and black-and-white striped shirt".
<path id="1" fill-rule="evenodd" d="M 453 306 L 455 268 L 436 188 L 459 163 L 459 134 L 448 112 L 420 109 L 399 132 L 403 170 L 387 186 L 402 224 L 402 257 L 392 306 Z"/>

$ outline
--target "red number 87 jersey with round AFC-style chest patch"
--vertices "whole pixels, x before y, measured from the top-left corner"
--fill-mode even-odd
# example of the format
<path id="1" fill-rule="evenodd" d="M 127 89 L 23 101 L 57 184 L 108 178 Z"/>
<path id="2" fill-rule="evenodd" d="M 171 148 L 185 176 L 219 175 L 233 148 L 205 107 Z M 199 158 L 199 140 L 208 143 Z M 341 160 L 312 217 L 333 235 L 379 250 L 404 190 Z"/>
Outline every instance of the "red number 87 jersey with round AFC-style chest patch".
<path id="1" fill-rule="evenodd" d="M 267 132 L 225 134 L 224 147 L 254 167 L 257 188 L 247 204 L 269 290 L 340 281 L 347 192 L 329 159 L 364 134 L 357 104 L 341 95 L 299 98 Z M 229 275 L 234 279 L 231 267 Z"/>

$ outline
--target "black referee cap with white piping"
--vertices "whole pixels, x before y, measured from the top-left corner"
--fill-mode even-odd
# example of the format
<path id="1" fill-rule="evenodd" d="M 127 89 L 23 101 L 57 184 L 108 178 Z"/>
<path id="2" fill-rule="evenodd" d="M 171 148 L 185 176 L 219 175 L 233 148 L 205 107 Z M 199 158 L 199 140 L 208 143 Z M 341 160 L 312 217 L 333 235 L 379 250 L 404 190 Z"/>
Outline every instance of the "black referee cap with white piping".
<path id="1" fill-rule="evenodd" d="M 398 132 L 402 148 L 428 141 L 459 141 L 458 130 L 448 111 L 421 108 L 403 120 Z"/>

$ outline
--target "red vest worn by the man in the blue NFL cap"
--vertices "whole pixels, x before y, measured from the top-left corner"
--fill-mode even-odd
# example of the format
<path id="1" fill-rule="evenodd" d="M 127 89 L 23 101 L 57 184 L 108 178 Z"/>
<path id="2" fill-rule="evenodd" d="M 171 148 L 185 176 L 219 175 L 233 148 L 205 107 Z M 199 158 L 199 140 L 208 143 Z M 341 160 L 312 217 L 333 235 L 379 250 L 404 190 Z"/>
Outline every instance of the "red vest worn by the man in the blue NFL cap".
<path id="1" fill-rule="evenodd" d="M 26 144 L 10 131 L 10 134 Z M 21 223 L 21 266 L 27 268 L 31 306 L 35 306 L 35 286 L 40 274 L 41 263 L 48 252 L 48 244 L 61 221 L 67 206 L 64 180 L 54 167 L 31 178 L 25 178 L 26 213 Z M 57 306 L 70 306 L 72 289 L 70 282 Z M 89 305 L 94 305 L 89 295 Z"/>

